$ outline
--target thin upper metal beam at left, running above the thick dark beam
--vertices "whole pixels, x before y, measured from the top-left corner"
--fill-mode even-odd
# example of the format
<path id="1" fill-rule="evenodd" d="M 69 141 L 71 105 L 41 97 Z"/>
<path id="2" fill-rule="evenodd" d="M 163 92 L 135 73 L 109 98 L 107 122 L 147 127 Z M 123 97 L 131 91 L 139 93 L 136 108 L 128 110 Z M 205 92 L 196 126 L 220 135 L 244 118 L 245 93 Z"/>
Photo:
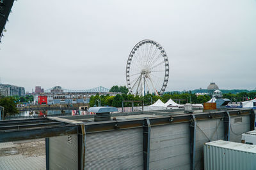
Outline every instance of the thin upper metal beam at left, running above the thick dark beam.
<path id="1" fill-rule="evenodd" d="M 48 126 L 56 126 L 56 125 L 66 125 L 65 122 L 50 122 L 50 123 L 43 123 L 43 124 L 26 124 L 26 125 L 8 125 L 0 127 L 1 131 L 6 130 L 18 130 L 19 129 L 31 129 L 35 127 L 48 127 Z"/>

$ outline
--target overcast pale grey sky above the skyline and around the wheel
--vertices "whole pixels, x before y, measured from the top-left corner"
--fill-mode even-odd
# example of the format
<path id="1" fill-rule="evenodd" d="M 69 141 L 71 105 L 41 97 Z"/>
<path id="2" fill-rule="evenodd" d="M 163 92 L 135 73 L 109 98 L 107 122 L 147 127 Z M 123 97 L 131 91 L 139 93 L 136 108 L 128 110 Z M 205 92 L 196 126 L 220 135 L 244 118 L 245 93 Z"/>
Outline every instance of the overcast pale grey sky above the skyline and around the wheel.
<path id="1" fill-rule="evenodd" d="M 49 89 L 126 85 L 142 39 L 163 45 L 166 90 L 256 87 L 256 1 L 15 1 L 0 44 L 1 83 Z"/>

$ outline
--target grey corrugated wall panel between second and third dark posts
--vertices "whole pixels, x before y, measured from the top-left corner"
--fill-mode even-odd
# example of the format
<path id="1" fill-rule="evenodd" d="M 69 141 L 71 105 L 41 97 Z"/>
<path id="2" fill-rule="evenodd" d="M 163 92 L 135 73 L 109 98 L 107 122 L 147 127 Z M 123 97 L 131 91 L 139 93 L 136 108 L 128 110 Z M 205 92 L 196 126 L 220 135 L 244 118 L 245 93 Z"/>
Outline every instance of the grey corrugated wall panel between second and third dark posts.
<path id="1" fill-rule="evenodd" d="M 150 169 L 189 169 L 189 123 L 151 127 Z"/>

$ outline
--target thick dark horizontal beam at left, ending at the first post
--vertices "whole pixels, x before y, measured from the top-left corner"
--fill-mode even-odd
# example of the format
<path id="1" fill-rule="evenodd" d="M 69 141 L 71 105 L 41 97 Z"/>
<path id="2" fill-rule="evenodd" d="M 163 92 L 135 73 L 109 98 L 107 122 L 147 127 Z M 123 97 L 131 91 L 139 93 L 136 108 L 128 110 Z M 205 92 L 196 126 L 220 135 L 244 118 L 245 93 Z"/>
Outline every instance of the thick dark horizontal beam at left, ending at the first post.
<path id="1" fill-rule="evenodd" d="M 68 134 L 77 134 L 79 125 L 64 125 L 55 127 L 39 127 L 34 129 L 21 129 L 19 131 L 0 132 L 0 143 L 36 138 L 49 138 Z"/>

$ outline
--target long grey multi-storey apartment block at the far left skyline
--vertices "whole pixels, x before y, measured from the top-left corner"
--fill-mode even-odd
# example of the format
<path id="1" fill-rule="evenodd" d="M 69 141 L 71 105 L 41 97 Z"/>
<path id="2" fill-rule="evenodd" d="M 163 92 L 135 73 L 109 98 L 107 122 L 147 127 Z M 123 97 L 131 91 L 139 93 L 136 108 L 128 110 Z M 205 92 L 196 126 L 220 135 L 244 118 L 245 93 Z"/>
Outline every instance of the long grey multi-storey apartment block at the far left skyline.
<path id="1" fill-rule="evenodd" d="M 0 96 L 25 96 L 25 88 L 0 84 Z"/>

